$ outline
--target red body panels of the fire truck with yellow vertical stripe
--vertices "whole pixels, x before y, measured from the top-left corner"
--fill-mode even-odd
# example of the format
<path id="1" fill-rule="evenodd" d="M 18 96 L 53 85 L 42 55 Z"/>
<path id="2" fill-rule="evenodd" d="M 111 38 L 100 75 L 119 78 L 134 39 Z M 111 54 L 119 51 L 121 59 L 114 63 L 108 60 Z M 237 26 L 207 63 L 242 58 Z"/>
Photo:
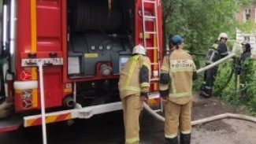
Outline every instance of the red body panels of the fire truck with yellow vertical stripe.
<path id="1" fill-rule="evenodd" d="M 161 1 L 158 1 L 161 2 Z M 67 0 L 22 0 L 17 2 L 17 51 L 16 51 L 16 81 L 27 81 L 39 79 L 37 67 L 22 67 L 21 60 L 25 58 L 63 58 L 61 66 L 45 66 L 43 68 L 44 90 L 46 109 L 61 107 L 65 96 L 72 94 L 73 83 L 87 82 L 98 79 L 118 79 L 117 75 L 102 76 L 97 73 L 91 78 L 69 79 L 68 77 L 68 2 Z M 145 10 L 154 13 L 154 5 L 145 4 Z M 142 9 L 142 0 L 135 1 L 135 42 L 134 44 L 143 44 L 143 18 L 139 14 Z M 34 13 L 34 15 L 33 15 Z M 162 51 L 162 29 L 161 29 L 161 3 L 158 3 L 158 45 L 161 61 Z M 35 27 L 33 29 L 33 27 Z M 147 31 L 155 31 L 154 23 L 147 22 Z M 147 38 L 147 46 L 155 46 L 156 37 L 150 35 Z M 34 44 L 33 44 L 34 42 Z M 156 61 L 155 51 L 148 51 L 150 60 Z M 96 67 L 99 72 L 99 65 Z M 153 67 L 153 70 L 158 70 Z M 24 73 L 28 74 L 29 79 L 24 79 Z M 31 75 L 31 76 L 30 76 Z M 39 83 L 38 83 L 39 84 Z M 22 90 L 13 92 L 15 97 L 15 111 L 17 113 L 31 109 L 40 109 L 40 89 L 31 90 L 32 102 L 26 102 L 22 98 Z M 25 102 L 25 103 L 24 103 Z M 32 105 L 32 107 L 26 107 Z M 26 106 L 24 106 L 26 105 Z M 28 109 L 27 109 L 28 108 Z"/>

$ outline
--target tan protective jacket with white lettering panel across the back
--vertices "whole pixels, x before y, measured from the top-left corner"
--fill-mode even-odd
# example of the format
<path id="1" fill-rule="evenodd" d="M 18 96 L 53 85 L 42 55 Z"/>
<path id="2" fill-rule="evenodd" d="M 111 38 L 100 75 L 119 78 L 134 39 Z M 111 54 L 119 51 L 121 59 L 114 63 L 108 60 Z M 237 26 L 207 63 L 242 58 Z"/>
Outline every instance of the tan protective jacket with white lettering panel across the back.
<path id="1" fill-rule="evenodd" d="M 164 57 L 161 67 L 161 97 L 169 96 L 170 101 L 180 105 L 189 102 L 193 79 L 196 78 L 195 71 L 195 63 L 190 54 L 184 50 L 173 50 L 169 56 Z"/>

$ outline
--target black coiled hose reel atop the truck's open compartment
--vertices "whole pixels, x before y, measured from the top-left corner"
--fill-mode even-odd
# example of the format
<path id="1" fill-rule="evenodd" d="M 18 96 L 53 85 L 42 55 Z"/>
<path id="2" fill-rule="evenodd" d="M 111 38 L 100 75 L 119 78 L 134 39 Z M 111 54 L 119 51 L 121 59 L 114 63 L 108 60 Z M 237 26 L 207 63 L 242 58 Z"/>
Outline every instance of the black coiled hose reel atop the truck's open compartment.
<path id="1" fill-rule="evenodd" d="M 117 31 L 124 23 L 121 9 L 111 9 L 108 6 L 97 6 L 85 1 L 74 1 L 70 13 L 72 31 Z"/>

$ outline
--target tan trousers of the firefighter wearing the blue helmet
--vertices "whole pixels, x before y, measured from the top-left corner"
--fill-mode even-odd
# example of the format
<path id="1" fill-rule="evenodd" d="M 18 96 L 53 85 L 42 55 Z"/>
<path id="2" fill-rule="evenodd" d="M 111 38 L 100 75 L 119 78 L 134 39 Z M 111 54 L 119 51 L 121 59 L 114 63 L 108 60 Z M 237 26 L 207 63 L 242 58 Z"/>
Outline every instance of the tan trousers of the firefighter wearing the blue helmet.
<path id="1" fill-rule="evenodd" d="M 176 138 L 179 126 L 181 134 L 191 134 L 191 101 L 185 105 L 171 101 L 165 104 L 165 138 Z"/>

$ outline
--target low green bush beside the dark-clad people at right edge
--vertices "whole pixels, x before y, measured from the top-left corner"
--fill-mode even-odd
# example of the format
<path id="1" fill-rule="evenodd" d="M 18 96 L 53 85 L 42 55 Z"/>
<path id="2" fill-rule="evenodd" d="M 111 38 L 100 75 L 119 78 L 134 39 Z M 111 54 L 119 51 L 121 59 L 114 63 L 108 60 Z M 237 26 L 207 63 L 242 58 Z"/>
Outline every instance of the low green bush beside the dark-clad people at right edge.
<path id="1" fill-rule="evenodd" d="M 213 92 L 226 102 L 234 105 L 250 105 L 256 110 L 256 61 L 247 59 L 243 66 L 246 72 L 244 76 L 238 76 L 236 84 L 234 62 L 227 61 L 220 65 Z M 245 83 L 241 83 L 241 79 Z M 241 96 L 243 89 L 247 91 L 244 98 Z"/>

